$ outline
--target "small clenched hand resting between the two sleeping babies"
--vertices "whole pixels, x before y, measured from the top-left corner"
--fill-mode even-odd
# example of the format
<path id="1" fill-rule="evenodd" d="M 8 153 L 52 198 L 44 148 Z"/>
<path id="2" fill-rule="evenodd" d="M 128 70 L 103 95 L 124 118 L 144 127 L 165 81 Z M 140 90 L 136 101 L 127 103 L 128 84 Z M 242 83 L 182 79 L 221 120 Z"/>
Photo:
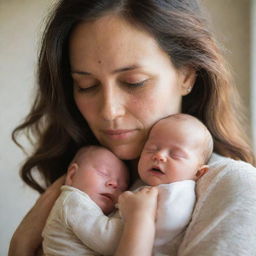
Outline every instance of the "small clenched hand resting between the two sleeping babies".
<path id="1" fill-rule="evenodd" d="M 124 220 L 149 218 L 155 220 L 158 190 L 156 187 L 145 187 L 139 191 L 126 191 L 118 198 L 118 207 Z"/>

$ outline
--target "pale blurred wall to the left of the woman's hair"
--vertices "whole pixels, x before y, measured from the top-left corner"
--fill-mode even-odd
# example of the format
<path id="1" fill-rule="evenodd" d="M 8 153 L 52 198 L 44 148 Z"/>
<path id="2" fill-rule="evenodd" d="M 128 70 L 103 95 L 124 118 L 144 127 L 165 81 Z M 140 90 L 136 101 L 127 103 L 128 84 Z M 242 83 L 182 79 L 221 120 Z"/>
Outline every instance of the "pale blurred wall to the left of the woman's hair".
<path id="1" fill-rule="evenodd" d="M 20 179 L 25 155 L 11 131 L 29 111 L 38 41 L 51 0 L 0 0 L 0 255 L 38 194 Z"/>

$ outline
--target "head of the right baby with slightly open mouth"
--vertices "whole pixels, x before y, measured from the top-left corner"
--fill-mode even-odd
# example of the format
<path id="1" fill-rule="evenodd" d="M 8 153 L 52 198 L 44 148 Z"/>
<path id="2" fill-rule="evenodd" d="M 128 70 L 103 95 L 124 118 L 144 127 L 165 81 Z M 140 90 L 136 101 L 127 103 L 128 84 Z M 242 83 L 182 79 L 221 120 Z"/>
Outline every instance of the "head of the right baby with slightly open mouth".
<path id="1" fill-rule="evenodd" d="M 187 114 L 175 114 L 151 129 L 138 165 L 140 178 L 156 186 L 197 180 L 207 170 L 213 139 L 205 125 Z"/>

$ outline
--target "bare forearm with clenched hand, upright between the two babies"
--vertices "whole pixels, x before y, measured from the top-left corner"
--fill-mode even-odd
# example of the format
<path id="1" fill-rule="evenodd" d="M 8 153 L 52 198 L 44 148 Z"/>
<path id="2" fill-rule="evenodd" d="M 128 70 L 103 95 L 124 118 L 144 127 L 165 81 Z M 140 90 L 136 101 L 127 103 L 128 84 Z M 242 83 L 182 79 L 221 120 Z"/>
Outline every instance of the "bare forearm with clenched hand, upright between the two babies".
<path id="1" fill-rule="evenodd" d="M 158 190 L 146 187 L 119 197 L 124 230 L 115 256 L 151 256 L 155 236 Z"/>

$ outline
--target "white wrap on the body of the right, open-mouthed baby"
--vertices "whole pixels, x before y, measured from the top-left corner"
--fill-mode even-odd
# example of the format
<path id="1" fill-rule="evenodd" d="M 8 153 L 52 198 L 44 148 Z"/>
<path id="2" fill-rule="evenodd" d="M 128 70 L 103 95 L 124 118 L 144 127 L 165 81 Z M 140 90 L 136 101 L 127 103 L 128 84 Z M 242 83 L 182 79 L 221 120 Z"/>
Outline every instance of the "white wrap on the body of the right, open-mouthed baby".
<path id="1" fill-rule="evenodd" d="M 196 201 L 195 181 L 184 180 L 158 187 L 154 255 L 168 255 L 172 241 L 186 228 Z"/>

